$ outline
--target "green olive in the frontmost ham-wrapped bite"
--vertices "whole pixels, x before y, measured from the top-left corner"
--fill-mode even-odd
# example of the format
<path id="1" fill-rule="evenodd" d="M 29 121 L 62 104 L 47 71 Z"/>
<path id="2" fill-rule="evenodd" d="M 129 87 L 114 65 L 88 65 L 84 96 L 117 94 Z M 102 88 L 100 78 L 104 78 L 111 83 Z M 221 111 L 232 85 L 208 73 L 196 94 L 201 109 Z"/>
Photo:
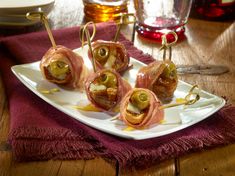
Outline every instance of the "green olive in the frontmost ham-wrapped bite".
<path id="1" fill-rule="evenodd" d="M 131 95 L 131 102 L 140 110 L 146 109 L 150 103 L 148 94 L 143 90 L 134 92 Z"/>

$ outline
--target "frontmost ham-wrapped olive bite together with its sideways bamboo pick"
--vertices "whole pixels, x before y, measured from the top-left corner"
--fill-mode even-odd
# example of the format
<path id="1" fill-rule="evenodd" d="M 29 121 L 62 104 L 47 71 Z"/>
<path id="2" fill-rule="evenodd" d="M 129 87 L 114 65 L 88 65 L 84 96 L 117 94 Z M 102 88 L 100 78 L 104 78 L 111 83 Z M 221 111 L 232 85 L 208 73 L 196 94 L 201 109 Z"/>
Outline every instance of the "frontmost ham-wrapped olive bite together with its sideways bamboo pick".
<path id="1" fill-rule="evenodd" d="M 145 129 L 153 125 L 163 124 L 164 109 L 180 105 L 192 105 L 200 99 L 199 93 L 194 92 L 197 87 L 197 85 L 192 86 L 181 102 L 168 105 L 162 105 L 161 101 L 151 90 L 134 88 L 122 99 L 118 119 L 135 129 Z M 115 119 L 116 117 L 112 120 Z"/>

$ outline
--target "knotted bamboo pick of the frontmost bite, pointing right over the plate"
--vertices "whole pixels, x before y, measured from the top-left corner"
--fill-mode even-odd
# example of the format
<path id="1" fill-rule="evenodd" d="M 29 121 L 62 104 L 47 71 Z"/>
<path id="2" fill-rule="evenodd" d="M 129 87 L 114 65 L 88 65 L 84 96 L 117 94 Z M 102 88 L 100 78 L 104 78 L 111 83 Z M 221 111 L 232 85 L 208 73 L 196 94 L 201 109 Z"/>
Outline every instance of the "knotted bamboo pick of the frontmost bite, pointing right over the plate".
<path id="1" fill-rule="evenodd" d="M 163 110 L 163 109 L 167 109 L 167 108 L 171 108 L 171 107 L 175 107 L 175 106 L 192 105 L 192 104 L 196 103 L 200 99 L 200 95 L 199 95 L 199 93 L 194 92 L 195 88 L 198 88 L 198 86 L 194 85 L 189 90 L 189 93 L 184 97 L 184 99 L 181 102 L 179 102 L 179 103 L 172 103 L 172 104 L 168 104 L 168 105 L 162 105 L 162 106 L 158 107 L 158 109 Z M 118 116 L 115 116 L 115 117 L 113 117 L 110 120 L 111 121 L 116 120 L 116 119 L 118 119 Z"/>

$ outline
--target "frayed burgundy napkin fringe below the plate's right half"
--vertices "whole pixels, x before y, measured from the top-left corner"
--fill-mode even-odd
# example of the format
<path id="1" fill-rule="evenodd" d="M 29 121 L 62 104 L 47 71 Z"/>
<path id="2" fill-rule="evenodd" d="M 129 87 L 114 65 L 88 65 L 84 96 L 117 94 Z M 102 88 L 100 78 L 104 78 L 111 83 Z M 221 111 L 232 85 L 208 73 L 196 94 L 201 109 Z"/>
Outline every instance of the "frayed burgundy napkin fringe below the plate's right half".
<path id="1" fill-rule="evenodd" d="M 229 116 L 228 116 L 229 115 Z M 215 119 L 221 118 L 222 121 L 228 125 L 227 128 L 215 127 L 217 129 L 206 131 L 204 134 L 199 134 L 198 136 L 188 136 L 192 133 L 199 125 L 199 130 L 203 129 L 203 123 L 209 123 Z M 215 124 L 215 122 L 213 122 Z M 159 140 L 167 137 L 172 141 L 169 143 L 159 144 L 158 149 L 152 149 L 151 151 L 146 151 L 145 149 L 135 149 L 126 148 L 122 151 L 114 151 L 112 154 L 105 155 L 108 159 L 115 158 L 120 168 L 133 169 L 136 168 L 146 168 L 150 165 L 160 163 L 168 159 L 174 159 L 176 157 L 183 156 L 188 153 L 198 152 L 203 149 L 211 149 L 213 147 L 221 147 L 227 144 L 235 142 L 235 107 L 226 106 L 222 108 L 219 112 L 212 115 L 212 117 L 199 122 L 191 127 L 171 133 L 169 135 L 159 137 Z M 221 126 L 222 127 L 222 126 Z M 192 130 L 192 131 L 191 131 Z M 177 133 L 181 133 L 180 137 L 177 137 Z M 167 141 L 169 141 L 167 139 Z M 152 139 L 155 142 L 154 139 Z M 137 141 L 138 142 L 138 141 Z M 167 154 L 166 154 L 167 153 Z M 118 156 L 118 157 L 117 157 Z M 131 157 L 130 157 L 131 156 Z M 146 164 L 147 163 L 147 164 Z"/>

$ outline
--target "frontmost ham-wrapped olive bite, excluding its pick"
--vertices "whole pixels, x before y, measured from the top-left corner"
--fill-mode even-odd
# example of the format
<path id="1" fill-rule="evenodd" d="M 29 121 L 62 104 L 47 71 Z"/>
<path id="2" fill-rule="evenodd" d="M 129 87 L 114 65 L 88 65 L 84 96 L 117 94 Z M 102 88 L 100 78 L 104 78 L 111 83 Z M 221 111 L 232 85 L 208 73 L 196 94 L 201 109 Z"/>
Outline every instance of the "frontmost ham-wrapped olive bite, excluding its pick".
<path id="1" fill-rule="evenodd" d="M 147 128 L 164 118 L 164 111 L 159 109 L 160 106 L 161 102 L 152 91 L 134 88 L 122 99 L 119 118 L 133 128 Z"/>

